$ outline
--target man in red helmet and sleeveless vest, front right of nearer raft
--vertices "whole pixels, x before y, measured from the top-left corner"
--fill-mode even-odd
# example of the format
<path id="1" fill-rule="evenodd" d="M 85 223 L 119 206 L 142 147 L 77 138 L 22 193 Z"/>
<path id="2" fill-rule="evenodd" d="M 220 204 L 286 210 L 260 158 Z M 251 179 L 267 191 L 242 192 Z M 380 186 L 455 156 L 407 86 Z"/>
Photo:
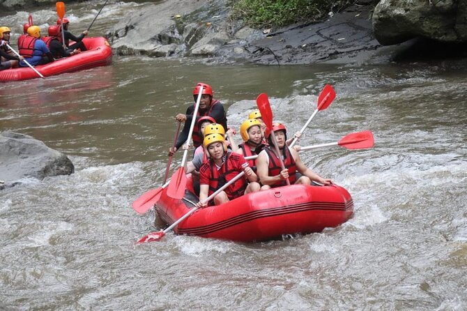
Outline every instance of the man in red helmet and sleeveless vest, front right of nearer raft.
<path id="1" fill-rule="evenodd" d="M 269 146 L 266 146 L 263 151 L 259 153 L 256 161 L 257 174 L 261 184 L 263 184 L 263 189 L 286 185 L 287 179 L 289 179 L 291 185 L 310 185 L 312 181 L 317 181 L 324 185 L 330 185 L 332 183 L 330 179 L 323 179 L 323 177 L 306 167 L 302 160 L 300 160 L 298 152 L 286 146 L 287 130 L 283 124 L 273 123 L 272 130 L 274 131 L 277 146 L 282 154 L 277 155 L 275 148 L 271 148 L 274 146 L 273 139 L 270 137 L 270 131 L 266 132 Z M 282 169 L 280 165 L 279 156 L 284 162 L 285 169 Z M 302 175 L 298 179 L 296 179 L 296 172 Z"/>

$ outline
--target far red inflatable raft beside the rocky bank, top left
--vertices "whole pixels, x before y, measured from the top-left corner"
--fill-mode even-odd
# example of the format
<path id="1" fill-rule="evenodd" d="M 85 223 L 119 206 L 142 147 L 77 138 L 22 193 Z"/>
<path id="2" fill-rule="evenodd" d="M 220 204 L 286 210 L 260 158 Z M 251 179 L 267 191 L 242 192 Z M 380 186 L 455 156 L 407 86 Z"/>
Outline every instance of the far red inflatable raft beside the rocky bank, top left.
<path id="1" fill-rule="evenodd" d="M 61 73 L 106 66 L 112 63 L 112 47 L 110 47 L 105 38 L 84 38 L 83 42 L 88 49 L 86 52 L 58 59 L 52 63 L 36 66 L 35 68 L 44 77 L 48 77 L 50 75 L 60 75 Z M 34 79 L 37 77 L 39 77 L 38 74 L 29 67 L 0 70 L 0 82 Z"/>

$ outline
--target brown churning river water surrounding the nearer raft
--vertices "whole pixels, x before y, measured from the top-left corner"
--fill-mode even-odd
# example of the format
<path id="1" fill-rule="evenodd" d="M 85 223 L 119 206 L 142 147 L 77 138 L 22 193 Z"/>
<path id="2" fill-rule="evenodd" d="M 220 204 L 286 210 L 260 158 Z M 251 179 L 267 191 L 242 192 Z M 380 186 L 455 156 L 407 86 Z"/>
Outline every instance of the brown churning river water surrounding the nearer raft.
<path id="1" fill-rule="evenodd" d="M 75 6 L 84 28 L 92 15 Z M 0 191 L 0 310 L 464 310 L 466 73 L 463 60 L 266 67 L 115 56 L 112 66 L 1 84 L 1 130 L 66 153 L 76 172 Z M 353 218 L 286 241 L 170 233 L 135 246 L 160 228 L 131 203 L 161 185 L 174 115 L 197 82 L 213 86 L 236 128 L 268 93 L 291 132 L 331 84 L 337 98 L 300 144 L 374 132 L 373 149 L 302 155 L 351 192 Z"/>

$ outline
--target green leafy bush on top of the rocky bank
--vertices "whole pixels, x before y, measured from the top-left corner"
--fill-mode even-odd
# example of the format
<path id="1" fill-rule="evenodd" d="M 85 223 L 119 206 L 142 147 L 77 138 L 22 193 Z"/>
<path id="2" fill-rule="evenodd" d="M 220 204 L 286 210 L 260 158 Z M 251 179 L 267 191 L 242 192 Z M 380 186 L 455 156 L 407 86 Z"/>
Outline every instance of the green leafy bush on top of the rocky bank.
<path id="1" fill-rule="evenodd" d="M 237 0 L 229 1 L 232 17 L 254 27 L 314 22 L 349 6 L 353 0 Z"/>

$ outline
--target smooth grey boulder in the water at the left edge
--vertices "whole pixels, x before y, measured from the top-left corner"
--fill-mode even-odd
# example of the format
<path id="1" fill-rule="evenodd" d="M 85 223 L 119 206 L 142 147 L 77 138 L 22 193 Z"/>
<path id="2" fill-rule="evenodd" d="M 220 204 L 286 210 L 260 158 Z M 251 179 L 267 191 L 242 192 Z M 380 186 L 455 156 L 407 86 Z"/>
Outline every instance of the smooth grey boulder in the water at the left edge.
<path id="1" fill-rule="evenodd" d="M 0 132 L 0 180 L 6 185 L 24 177 L 44 179 L 73 172 L 70 159 L 43 142 L 17 132 Z"/>

